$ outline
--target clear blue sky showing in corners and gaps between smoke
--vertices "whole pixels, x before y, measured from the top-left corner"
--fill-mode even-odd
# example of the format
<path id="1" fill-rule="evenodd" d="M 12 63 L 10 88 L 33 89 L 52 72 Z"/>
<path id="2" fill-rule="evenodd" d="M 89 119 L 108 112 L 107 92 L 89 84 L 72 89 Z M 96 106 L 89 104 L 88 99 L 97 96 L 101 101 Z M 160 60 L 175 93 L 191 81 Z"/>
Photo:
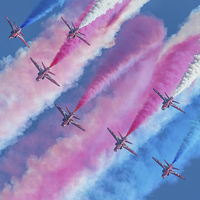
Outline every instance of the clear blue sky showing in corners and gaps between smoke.
<path id="1" fill-rule="evenodd" d="M 14 56 L 15 52 L 20 48 L 24 47 L 24 44 L 19 39 L 9 40 L 8 36 L 10 34 L 10 26 L 7 23 L 5 16 L 11 20 L 11 22 L 16 22 L 18 26 L 24 22 L 26 17 L 30 14 L 30 12 L 34 9 L 34 7 L 39 3 L 39 0 L 36 1 L 24 1 L 20 0 L 17 2 L 13 2 L 8 0 L 6 2 L 1 3 L 0 6 L 0 24 L 3 31 L 1 31 L 1 38 L 0 38 L 0 58 L 7 57 L 8 55 Z M 170 37 L 172 34 L 178 32 L 179 27 L 183 24 L 185 19 L 190 14 L 191 10 L 196 8 L 199 4 L 197 0 L 177 0 L 177 1 L 164 1 L 164 0 L 151 0 L 147 3 L 142 9 L 141 13 L 147 15 L 155 15 L 156 17 L 162 19 L 164 21 L 165 27 L 167 27 L 167 36 Z M 22 12 L 23 10 L 23 12 Z M 46 17 L 38 20 L 34 24 L 24 28 L 22 31 L 26 37 L 26 41 L 30 41 L 37 37 L 42 30 L 42 22 L 44 22 L 48 17 L 50 17 L 53 13 L 58 13 L 61 8 L 55 8 L 53 12 L 47 14 Z M 42 48 L 42 47 L 41 47 Z M 96 61 L 92 61 L 95 63 Z M 89 69 L 88 69 L 89 71 Z M 86 85 L 88 80 L 92 77 L 92 73 L 87 75 L 87 70 L 85 71 L 84 76 L 80 80 L 81 85 L 84 83 Z M 84 87 L 83 84 L 83 87 Z M 63 93 L 60 99 L 64 99 L 66 97 L 76 98 L 73 91 L 68 91 L 67 93 Z M 61 100 L 60 100 L 61 101 Z M 59 102 L 59 99 L 58 99 Z M 189 108 L 187 108 L 189 109 Z M 48 110 L 45 111 L 44 114 L 39 116 L 42 118 L 42 115 L 48 115 Z M 179 117 L 181 120 L 181 117 Z M 37 120 L 30 126 L 29 130 L 26 130 L 26 133 L 30 133 L 34 126 L 36 126 Z M 56 139 L 56 138 L 53 138 Z M 152 139 L 153 140 L 153 139 Z M 145 148 L 145 147 L 144 147 Z M 172 155 L 174 157 L 175 155 Z M 155 156 L 156 157 L 156 156 Z M 164 158 L 163 158 L 164 159 Z M 160 160 L 163 161 L 163 160 Z M 128 161 L 129 162 L 129 161 Z M 153 162 L 153 160 L 152 160 Z M 172 160 L 168 160 L 168 162 L 172 162 Z M 154 164 L 154 163 L 153 163 Z M 199 184 L 200 183 L 200 173 L 199 173 L 199 166 L 200 160 L 194 159 L 189 162 L 189 164 L 185 167 L 184 172 L 181 174 L 187 178 L 186 181 L 177 180 L 170 182 L 170 177 L 167 177 L 167 181 L 163 180 L 164 184 L 162 184 L 158 189 L 154 190 L 150 195 L 146 197 L 147 200 L 160 200 L 160 199 L 181 199 L 181 200 L 188 200 L 188 199 L 199 199 Z M 133 166 L 134 167 L 134 166 Z M 155 168 L 158 169 L 158 177 L 161 178 L 161 167 L 156 165 Z M 151 173 L 151 172 L 149 172 Z M 147 177 L 148 179 L 148 177 Z M 195 183 L 195 184 L 194 184 Z"/>

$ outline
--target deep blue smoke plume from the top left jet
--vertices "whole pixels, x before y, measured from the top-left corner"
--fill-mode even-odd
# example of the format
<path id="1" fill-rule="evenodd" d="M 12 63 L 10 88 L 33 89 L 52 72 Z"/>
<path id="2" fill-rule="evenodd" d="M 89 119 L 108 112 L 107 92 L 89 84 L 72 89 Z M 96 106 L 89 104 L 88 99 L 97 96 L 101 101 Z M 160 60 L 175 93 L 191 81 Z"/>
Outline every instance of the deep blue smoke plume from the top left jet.
<path id="1" fill-rule="evenodd" d="M 33 12 L 28 16 L 25 22 L 22 24 L 21 28 L 24 28 L 38 19 L 44 17 L 47 13 L 52 11 L 56 6 L 63 6 L 65 0 L 43 0 L 39 5 L 33 10 Z"/>

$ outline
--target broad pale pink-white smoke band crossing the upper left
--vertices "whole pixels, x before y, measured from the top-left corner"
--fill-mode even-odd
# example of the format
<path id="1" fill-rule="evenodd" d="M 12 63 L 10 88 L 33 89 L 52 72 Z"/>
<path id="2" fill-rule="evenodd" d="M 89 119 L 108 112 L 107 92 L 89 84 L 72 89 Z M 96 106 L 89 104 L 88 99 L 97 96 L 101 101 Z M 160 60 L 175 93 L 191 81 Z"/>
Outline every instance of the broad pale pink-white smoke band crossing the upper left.
<path id="1" fill-rule="evenodd" d="M 35 81 L 37 69 L 30 61 L 30 57 L 33 57 L 38 64 L 40 61 L 46 64 L 51 63 L 55 49 L 59 49 L 63 42 L 61 38 L 64 38 L 66 34 L 65 27 L 62 30 L 61 23 L 55 23 L 57 20 L 60 21 L 59 16 L 55 17 L 52 25 L 48 25 L 48 29 L 35 39 L 28 52 L 20 48 L 13 62 L 10 62 L 10 59 L 0 62 L 4 69 L 0 74 L 0 150 L 6 148 L 12 140 L 14 141 L 17 136 L 23 134 L 22 131 L 29 125 L 26 124 L 29 119 L 36 117 L 47 106 L 52 105 L 61 92 L 74 86 L 75 81 L 83 74 L 83 68 L 87 61 L 99 55 L 102 48 L 108 47 L 108 44 L 113 42 L 122 23 L 133 14 L 138 13 L 146 2 L 147 0 L 138 0 L 129 3 L 115 23 L 109 27 L 102 27 L 101 30 L 98 30 L 98 34 L 94 34 L 90 38 L 93 45 L 87 51 L 84 44 L 80 45 L 80 48 L 65 58 L 64 62 L 53 68 L 52 70 L 56 74 L 55 79 L 61 85 L 60 88 L 48 80 L 37 83 Z M 69 15 L 73 15 L 74 11 L 70 12 L 71 8 L 67 7 L 66 10 Z M 57 33 L 58 29 L 60 30 L 59 34 Z M 103 38 L 102 35 L 104 35 Z M 40 46 L 43 48 L 39 48 Z M 78 60 L 77 55 L 79 55 Z M 71 64 L 67 68 L 67 73 L 65 63 Z"/>

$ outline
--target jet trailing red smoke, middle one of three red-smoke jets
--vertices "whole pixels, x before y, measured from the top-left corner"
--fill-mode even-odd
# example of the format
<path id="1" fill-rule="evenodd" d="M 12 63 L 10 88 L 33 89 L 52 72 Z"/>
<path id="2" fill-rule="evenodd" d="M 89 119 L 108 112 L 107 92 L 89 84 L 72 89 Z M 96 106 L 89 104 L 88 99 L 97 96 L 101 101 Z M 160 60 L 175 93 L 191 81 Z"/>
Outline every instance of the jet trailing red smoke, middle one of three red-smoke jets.
<path id="1" fill-rule="evenodd" d="M 74 112 L 70 112 L 69 109 L 67 108 L 67 111 L 69 114 L 67 114 L 61 107 L 59 107 L 56 103 L 55 103 L 55 106 L 58 108 L 58 110 L 61 112 L 61 114 L 63 115 L 63 123 L 61 124 L 62 127 L 65 127 L 66 125 L 69 125 L 69 124 L 73 124 L 74 126 L 80 128 L 82 131 L 85 131 L 85 129 L 80 126 L 73 118 L 75 119 L 79 119 L 78 117 L 75 116 L 75 113 Z"/>

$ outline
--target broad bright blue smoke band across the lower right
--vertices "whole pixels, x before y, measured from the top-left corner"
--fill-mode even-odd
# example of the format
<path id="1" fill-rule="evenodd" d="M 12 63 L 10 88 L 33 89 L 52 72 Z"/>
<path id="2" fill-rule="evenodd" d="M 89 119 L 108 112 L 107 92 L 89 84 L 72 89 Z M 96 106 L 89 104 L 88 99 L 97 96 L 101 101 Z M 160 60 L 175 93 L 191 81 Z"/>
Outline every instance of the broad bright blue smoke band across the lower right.
<path id="1" fill-rule="evenodd" d="M 200 117 L 200 94 L 196 95 L 193 99 L 191 105 L 184 108 L 187 114 L 177 113 L 175 117 L 171 118 L 171 114 L 176 112 L 174 110 L 168 110 L 169 115 L 168 123 L 165 125 L 163 130 L 159 131 L 156 137 L 150 138 L 137 153 L 138 157 L 134 157 L 126 152 L 125 150 L 118 152 L 114 164 L 103 172 L 99 179 L 95 183 L 88 184 L 88 187 L 82 188 L 76 191 L 80 199 L 88 200 L 114 200 L 116 199 L 144 199 L 153 190 L 160 187 L 163 183 L 167 181 L 172 182 L 177 180 L 175 176 L 161 178 L 162 168 L 152 160 L 152 156 L 163 162 L 166 159 L 170 162 L 173 159 L 173 155 L 177 152 L 180 144 L 189 133 L 192 131 L 197 131 L 197 126 L 199 124 Z M 165 114 L 165 113 L 163 113 Z M 191 118 L 193 118 L 197 123 L 194 123 L 192 130 L 191 128 Z M 138 135 L 140 137 L 146 137 L 145 135 L 149 131 L 148 127 L 145 127 L 145 132 L 139 131 Z M 153 135 L 153 134 L 152 134 Z M 130 138 L 131 140 L 131 138 Z M 191 140 L 192 141 L 192 140 Z M 190 147 L 194 145 L 195 148 L 199 148 L 196 145 L 199 140 L 193 140 L 194 143 L 190 143 Z M 196 142 L 196 144 L 195 144 Z M 186 151 L 185 149 L 184 151 Z M 196 149 L 196 153 L 189 153 L 189 158 L 196 157 L 200 155 L 199 149 Z M 114 152 L 113 152 L 114 153 Z M 121 159 L 120 159 L 121 157 Z M 123 160 L 123 162 L 122 162 Z M 183 166 L 188 162 L 184 157 L 179 159 L 179 163 L 176 167 L 183 169 Z M 180 172 L 181 173 L 181 172 Z M 188 177 L 186 177 L 188 178 Z M 179 181 L 182 181 L 181 179 Z M 168 199 L 163 198 L 163 199 Z"/>

